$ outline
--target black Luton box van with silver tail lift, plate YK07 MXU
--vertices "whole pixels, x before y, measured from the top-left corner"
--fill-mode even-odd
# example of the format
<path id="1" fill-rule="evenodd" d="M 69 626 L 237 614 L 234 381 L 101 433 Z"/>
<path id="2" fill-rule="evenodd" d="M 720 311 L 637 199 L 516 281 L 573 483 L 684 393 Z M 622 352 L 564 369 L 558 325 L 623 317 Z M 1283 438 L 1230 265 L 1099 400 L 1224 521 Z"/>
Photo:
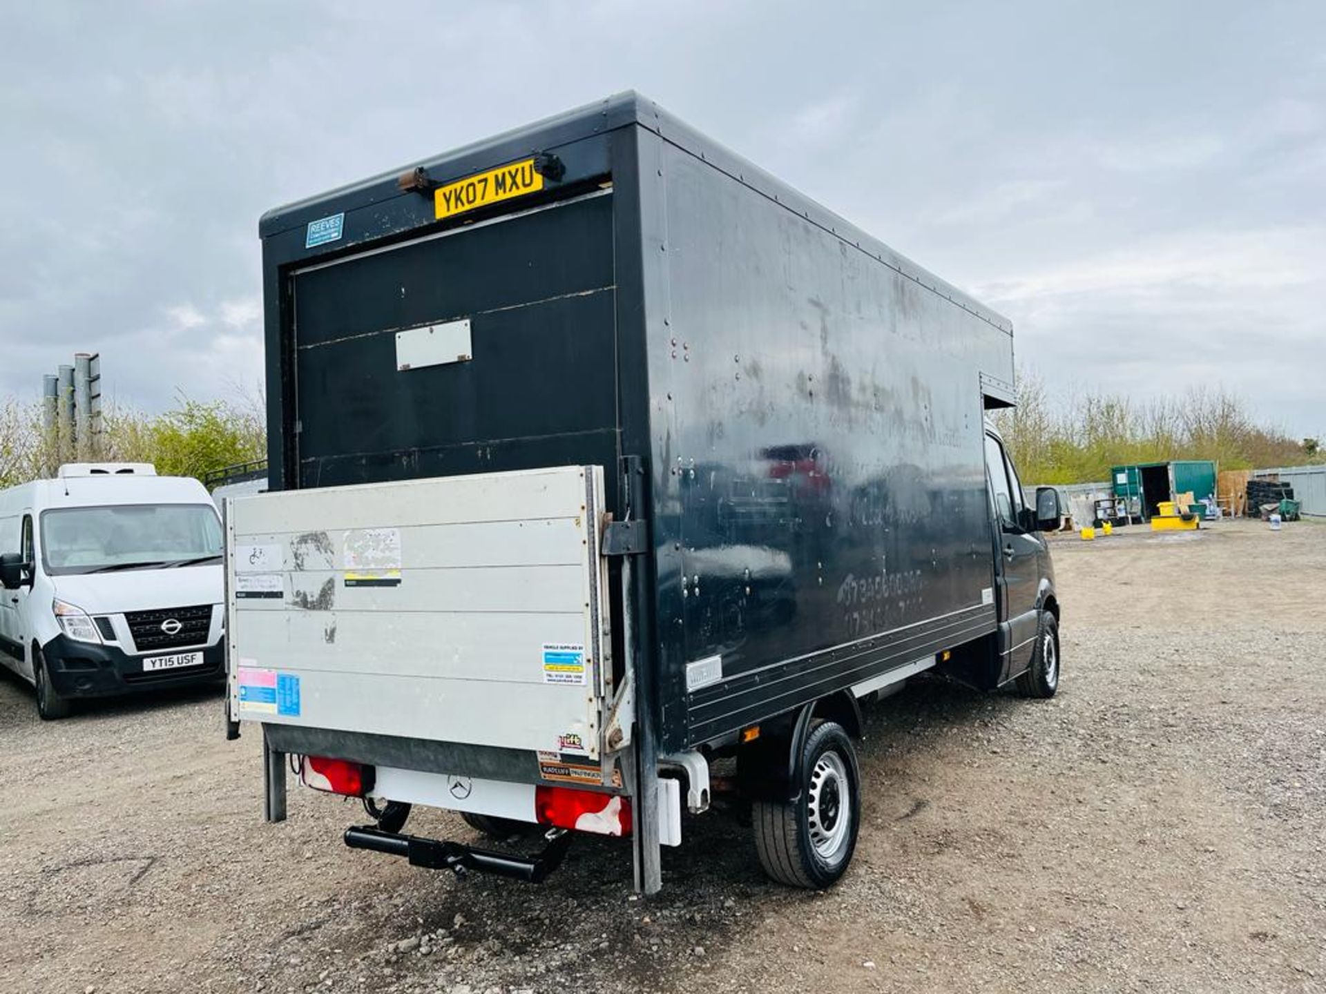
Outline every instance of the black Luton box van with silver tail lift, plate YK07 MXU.
<path id="1" fill-rule="evenodd" d="M 1054 693 L 1058 498 L 1024 504 L 987 421 L 1009 322 L 651 101 L 261 237 L 271 492 L 227 509 L 227 708 L 269 818 L 289 754 L 365 799 L 354 847 L 540 880 L 629 835 L 652 892 L 683 806 L 735 785 L 765 869 L 825 887 L 862 702 L 926 671 Z M 541 827 L 420 838 L 411 804 Z"/>

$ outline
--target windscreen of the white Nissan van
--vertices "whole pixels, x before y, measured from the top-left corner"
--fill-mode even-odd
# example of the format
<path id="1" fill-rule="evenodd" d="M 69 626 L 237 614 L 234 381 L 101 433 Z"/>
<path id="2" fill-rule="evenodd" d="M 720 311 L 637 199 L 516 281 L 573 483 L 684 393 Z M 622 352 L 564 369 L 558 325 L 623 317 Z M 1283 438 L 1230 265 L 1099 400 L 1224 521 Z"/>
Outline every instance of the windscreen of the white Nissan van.
<path id="1" fill-rule="evenodd" d="M 41 516 L 41 558 L 53 577 L 202 565 L 221 554 L 207 504 L 62 508 Z"/>

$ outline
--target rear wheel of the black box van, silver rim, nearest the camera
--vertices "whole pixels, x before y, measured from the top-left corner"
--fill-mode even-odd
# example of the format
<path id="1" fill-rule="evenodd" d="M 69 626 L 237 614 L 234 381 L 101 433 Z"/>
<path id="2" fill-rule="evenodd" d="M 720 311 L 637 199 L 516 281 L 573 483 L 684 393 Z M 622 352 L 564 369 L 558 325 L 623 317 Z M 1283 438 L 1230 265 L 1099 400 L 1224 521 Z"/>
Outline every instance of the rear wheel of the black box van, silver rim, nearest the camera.
<path id="1" fill-rule="evenodd" d="M 806 738 L 797 759 L 801 795 L 756 801 L 754 847 L 764 872 L 788 887 L 819 891 L 851 863 L 861 827 L 861 771 L 842 725 L 826 721 Z"/>

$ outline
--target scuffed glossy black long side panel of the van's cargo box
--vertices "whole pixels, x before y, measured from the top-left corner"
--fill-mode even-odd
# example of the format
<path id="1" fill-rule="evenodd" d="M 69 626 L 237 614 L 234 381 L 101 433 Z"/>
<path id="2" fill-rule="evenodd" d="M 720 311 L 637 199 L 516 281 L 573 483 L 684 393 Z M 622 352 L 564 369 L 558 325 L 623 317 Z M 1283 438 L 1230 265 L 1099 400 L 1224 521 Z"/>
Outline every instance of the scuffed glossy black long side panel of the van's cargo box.
<path id="1" fill-rule="evenodd" d="M 662 144 L 650 325 L 668 747 L 994 628 L 981 374 L 1012 335 Z M 686 667 L 721 656 L 717 684 Z"/>

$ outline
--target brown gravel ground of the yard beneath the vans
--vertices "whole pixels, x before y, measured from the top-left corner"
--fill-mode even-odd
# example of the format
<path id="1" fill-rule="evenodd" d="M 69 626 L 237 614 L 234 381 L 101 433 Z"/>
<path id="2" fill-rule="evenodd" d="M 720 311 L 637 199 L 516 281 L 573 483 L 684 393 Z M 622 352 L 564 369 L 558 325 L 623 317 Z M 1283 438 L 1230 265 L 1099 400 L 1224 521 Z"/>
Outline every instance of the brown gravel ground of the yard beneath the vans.
<path id="1" fill-rule="evenodd" d="M 0 679 L 0 990 L 1326 990 L 1326 526 L 1055 539 L 1059 694 L 869 709 L 822 895 L 719 814 L 648 901 L 614 840 L 537 888 L 415 871 L 341 846 L 335 798 L 263 824 L 215 693 L 41 724 Z"/>

